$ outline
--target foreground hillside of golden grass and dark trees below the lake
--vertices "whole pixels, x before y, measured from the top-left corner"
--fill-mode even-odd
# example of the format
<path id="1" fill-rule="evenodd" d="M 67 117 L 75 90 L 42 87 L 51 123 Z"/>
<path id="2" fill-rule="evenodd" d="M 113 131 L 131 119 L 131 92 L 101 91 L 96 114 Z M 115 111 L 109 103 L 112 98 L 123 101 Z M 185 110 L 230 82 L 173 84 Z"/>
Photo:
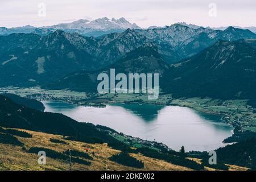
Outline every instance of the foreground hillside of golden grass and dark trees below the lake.
<path id="1" fill-rule="evenodd" d="M 31 109 L 25 105 L 16 104 L 13 100 L 10 100 L 5 96 L 0 96 L 0 100 L 0 150 L 1 155 L 3 154 L 4 156 L 0 158 L 1 169 L 65 170 L 65 165 L 62 164 L 61 167 L 58 162 L 61 164 L 72 160 L 72 167 L 75 167 L 76 164 L 82 165 L 79 168 L 75 168 L 75 170 L 92 170 L 95 168 L 91 168 L 90 166 L 93 166 L 94 161 L 97 161 L 97 154 L 101 154 L 102 152 L 108 155 L 108 159 L 105 158 L 106 160 L 111 160 L 112 162 L 122 164 L 123 166 L 138 169 L 151 169 L 151 167 L 147 168 L 146 162 L 144 162 L 143 159 L 138 159 L 137 155 L 143 155 L 150 159 L 162 160 L 172 165 L 182 167 L 181 169 L 184 170 L 209 169 L 208 163 L 205 162 L 205 157 L 207 157 L 207 155 L 205 155 L 207 153 L 205 152 L 197 152 L 196 155 L 193 154 L 193 152 L 191 154 L 189 152 L 177 152 L 167 148 L 161 143 L 148 141 L 145 141 L 147 143 L 144 143 L 143 140 L 140 139 L 137 139 L 137 142 L 140 142 L 138 145 L 133 143 L 133 137 L 119 133 L 122 137 L 129 138 L 129 140 L 124 140 L 124 138 L 119 138 L 118 135 L 116 135 L 116 131 L 105 126 L 93 125 L 92 123 L 81 123 L 63 114 L 41 112 L 39 110 Z M 18 130 L 15 128 L 18 128 Z M 135 146 L 130 142 L 135 144 Z M 74 143 L 76 147 L 73 146 Z M 79 148 L 80 144 L 85 148 Z M 101 147 L 96 147 L 98 144 L 104 147 L 109 146 L 111 147 L 111 150 L 119 151 L 119 153 L 117 152 L 110 156 L 111 150 L 100 151 Z M 238 147 L 241 144 L 247 146 L 250 144 L 250 141 L 237 144 Z M 94 147 L 97 148 L 96 151 L 93 150 Z M 219 162 L 218 165 L 210 166 L 210 168 L 224 170 L 232 169 L 234 166 L 233 162 L 230 161 L 230 159 L 225 160 L 225 154 L 226 152 L 229 152 L 229 148 L 227 148 L 228 151 L 226 150 L 226 147 L 220 149 L 223 155 L 222 157 L 224 158 L 222 159 L 223 161 L 221 160 L 222 162 Z M 86 154 L 86 152 L 82 152 L 81 150 L 85 150 L 86 152 L 92 151 L 92 153 Z M 55 159 L 51 162 L 50 166 L 46 166 L 47 168 L 38 166 L 38 164 L 35 164 L 34 159 L 32 159 L 32 156 L 38 158 L 37 154 L 39 151 L 46 151 L 48 158 Z M 7 157 L 6 152 L 8 152 Z M 249 149 L 248 152 L 250 154 L 250 152 L 252 152 L 251 149 Z M 187 158 L 187 156 L 189 156 L 189 158 Z M 254 156 L 252 157 L 254 158 Z M 244 156 L 244 158 L 247 158 L 247 156 Z M 231 159 L 233 159 L 233 156 Z M 108 162 L 102 162 L 102 160 L 100 162 L 100 164 L 104 164 L 104 166 L 106 163 Z M 69 170 L 71 170 L 70 162 L 68 162 L 68 164 Z M 232 166 L 230 166 L 230 164 L 232 164 Z M 167 164 L 167 166 L 168 165 L 169 164 Z M 239 169 L 240 167 L 238 166 L 241 165 L 254 168 L 255 164 L 252 163 L 248 166 L 248 164 L 236 163 L 237 167 L 234 167 L 233 169 Z M 96 170 L 102 169 L 104 168 L 101 166 Z M 126 169 L 130 170 L 129 168 Z M 160 169 L 163 170 L 163 168 Z M 172 169 L 170 168 L 170 170 Z M 179 168 L 174 170 L 179 170 Z"/>

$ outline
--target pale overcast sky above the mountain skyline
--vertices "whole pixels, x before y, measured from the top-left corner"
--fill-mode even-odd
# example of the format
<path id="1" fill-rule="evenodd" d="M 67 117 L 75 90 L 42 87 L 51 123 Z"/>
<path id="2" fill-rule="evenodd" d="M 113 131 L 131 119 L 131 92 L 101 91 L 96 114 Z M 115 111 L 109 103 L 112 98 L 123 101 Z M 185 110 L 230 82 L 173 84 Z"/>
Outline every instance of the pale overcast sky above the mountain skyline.
<path id="1" fill-rule="evenodd" d="M 46 5 L 46 16 L 38 15 L 39 3 Z M 205 27 L 246 27 L 256 26 L 256 1 L 0 0 L 0 27 L 17 27 L 26 24 L 40 27 L 78 19 L 93 20 L 105 16 L 124 17 L 143 28 L 152 25 L 165 26 L 176 22 Z"/>

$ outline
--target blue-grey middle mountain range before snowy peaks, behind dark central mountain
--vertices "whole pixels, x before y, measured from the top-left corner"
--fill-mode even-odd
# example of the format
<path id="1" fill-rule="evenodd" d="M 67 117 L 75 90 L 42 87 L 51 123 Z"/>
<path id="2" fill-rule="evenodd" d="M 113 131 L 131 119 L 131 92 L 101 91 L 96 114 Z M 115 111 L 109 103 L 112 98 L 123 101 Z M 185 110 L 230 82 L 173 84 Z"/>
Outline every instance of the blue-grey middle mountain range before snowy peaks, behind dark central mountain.
<path id="1" fill-rule="evenodd" d="M 0 86 L 42 85 L 83 69 L 101 69 L 147 43 L 157 47 L 166 63 L 176 63 L 212 46 L 219 39 L 256 39 L 256 35 L 233 27 L 215 31 L 176 24 L 152 30 L 127 29 L 100 39 L 61 30 L 46 36 L 0 36 Z"/>

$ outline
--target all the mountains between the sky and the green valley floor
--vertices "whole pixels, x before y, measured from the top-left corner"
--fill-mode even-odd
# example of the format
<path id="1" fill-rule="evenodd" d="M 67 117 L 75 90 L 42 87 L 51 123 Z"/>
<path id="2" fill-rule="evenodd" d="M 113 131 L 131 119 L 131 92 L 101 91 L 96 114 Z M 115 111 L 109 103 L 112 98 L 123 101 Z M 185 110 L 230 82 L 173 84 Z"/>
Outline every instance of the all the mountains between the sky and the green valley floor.
<path id="1" fill-rule="evenodd" d="M 256 35 L 250 30 L 228 27 L 222 31 L 176 23 L 144 30 L 128 28 L 98 38 L 55 30 L 79 29 L 82 24 L 108 29 L 100 26 L 104 22 L 136 28 L 122 18 L 104 18 L 33 30 L 44 36 L 0 36 L 0 86 L 43 85 L 94 92 L 96 75 L 115 68 L 124 73 L 157 71 L 163 91 L 176 96 L 254 98 Z"/>

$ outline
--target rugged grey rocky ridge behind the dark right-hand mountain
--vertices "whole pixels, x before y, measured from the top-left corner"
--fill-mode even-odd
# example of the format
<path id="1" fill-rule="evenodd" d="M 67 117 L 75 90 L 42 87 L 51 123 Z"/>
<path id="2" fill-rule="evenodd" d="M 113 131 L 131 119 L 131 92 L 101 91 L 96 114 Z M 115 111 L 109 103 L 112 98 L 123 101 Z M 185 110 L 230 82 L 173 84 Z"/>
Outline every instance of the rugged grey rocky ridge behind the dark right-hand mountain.
<path id="1" fill-rule="evenodd" d="M 159 46 L 159 52 L 168 63 L 174 63 L 185 57 L 195 55 L 214 44 L 217 40 L 255 39 L 256 35 L 249 30 L 228 27 L 224 31 L 199 27 L 197 29 L 173 24 L 166 28 L 133 30 Z"/>

